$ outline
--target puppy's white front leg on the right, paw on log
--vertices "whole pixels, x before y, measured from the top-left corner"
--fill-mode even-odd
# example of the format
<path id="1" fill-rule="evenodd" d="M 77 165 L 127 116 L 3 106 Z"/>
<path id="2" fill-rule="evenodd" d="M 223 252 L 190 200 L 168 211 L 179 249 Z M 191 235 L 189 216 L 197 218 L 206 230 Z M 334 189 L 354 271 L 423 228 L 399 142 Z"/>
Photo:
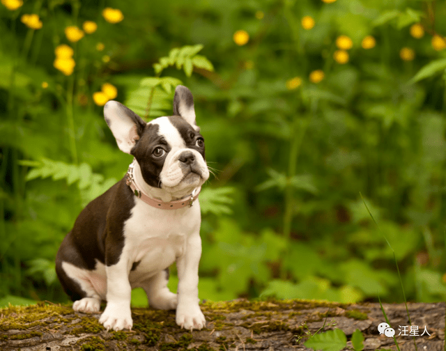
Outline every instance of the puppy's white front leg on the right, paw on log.
<path id="1" fill-rule="evenodd" d="M 201 257 L 199 231 L 187 237 L 185 253 L 176 260 L 178 270 L 178 306 L 176 324 L 185 329 L 201 329 L 206 320 L 199 307 L 198 266 Z"/>

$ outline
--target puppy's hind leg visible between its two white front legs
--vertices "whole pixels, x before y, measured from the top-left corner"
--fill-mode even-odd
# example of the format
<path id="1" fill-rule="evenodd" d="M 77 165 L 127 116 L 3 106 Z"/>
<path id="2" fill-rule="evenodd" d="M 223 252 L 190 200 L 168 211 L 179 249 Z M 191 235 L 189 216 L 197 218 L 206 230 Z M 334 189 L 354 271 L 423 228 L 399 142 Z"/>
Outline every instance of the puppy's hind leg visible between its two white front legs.
<path id="1" fill-rule="evenodd" d="M 169 281 L 169 268 L 162 270 L 141 284 L 147 294 L 148 306 L 153 309 L 176 309 L 178 297 L 167 288 Z"/>

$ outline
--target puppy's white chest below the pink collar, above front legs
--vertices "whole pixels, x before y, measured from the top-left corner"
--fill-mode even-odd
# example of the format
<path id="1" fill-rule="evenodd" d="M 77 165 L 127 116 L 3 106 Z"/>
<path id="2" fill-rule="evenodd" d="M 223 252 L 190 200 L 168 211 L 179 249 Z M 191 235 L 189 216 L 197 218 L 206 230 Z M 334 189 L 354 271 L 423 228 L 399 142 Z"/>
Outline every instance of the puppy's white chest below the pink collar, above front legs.
<path id="1" fill-rule="evenodd" d="M 123 228 L 123 253 L 133 263 L 130 280 L 145 279 L 174 263 L 200 221 L 197 209 L 160 210 L 135 201 Z"/>

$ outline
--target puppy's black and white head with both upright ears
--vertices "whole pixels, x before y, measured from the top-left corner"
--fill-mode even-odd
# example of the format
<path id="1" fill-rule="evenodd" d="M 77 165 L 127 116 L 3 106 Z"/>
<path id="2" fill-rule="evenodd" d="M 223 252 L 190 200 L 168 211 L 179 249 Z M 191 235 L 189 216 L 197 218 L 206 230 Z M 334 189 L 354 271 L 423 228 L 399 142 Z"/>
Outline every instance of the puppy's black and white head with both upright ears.
<path id="1" fill-rule="evenodd" d="M 147 185 L 187 195 L 208 180 L 204 139 L 195 122 L 194 98 L 185 86 L 176 87 L 174 116 L 146 123 L 116 101 L 105 104 L 104 116 L 118 147 L 137 160 Z"/>

